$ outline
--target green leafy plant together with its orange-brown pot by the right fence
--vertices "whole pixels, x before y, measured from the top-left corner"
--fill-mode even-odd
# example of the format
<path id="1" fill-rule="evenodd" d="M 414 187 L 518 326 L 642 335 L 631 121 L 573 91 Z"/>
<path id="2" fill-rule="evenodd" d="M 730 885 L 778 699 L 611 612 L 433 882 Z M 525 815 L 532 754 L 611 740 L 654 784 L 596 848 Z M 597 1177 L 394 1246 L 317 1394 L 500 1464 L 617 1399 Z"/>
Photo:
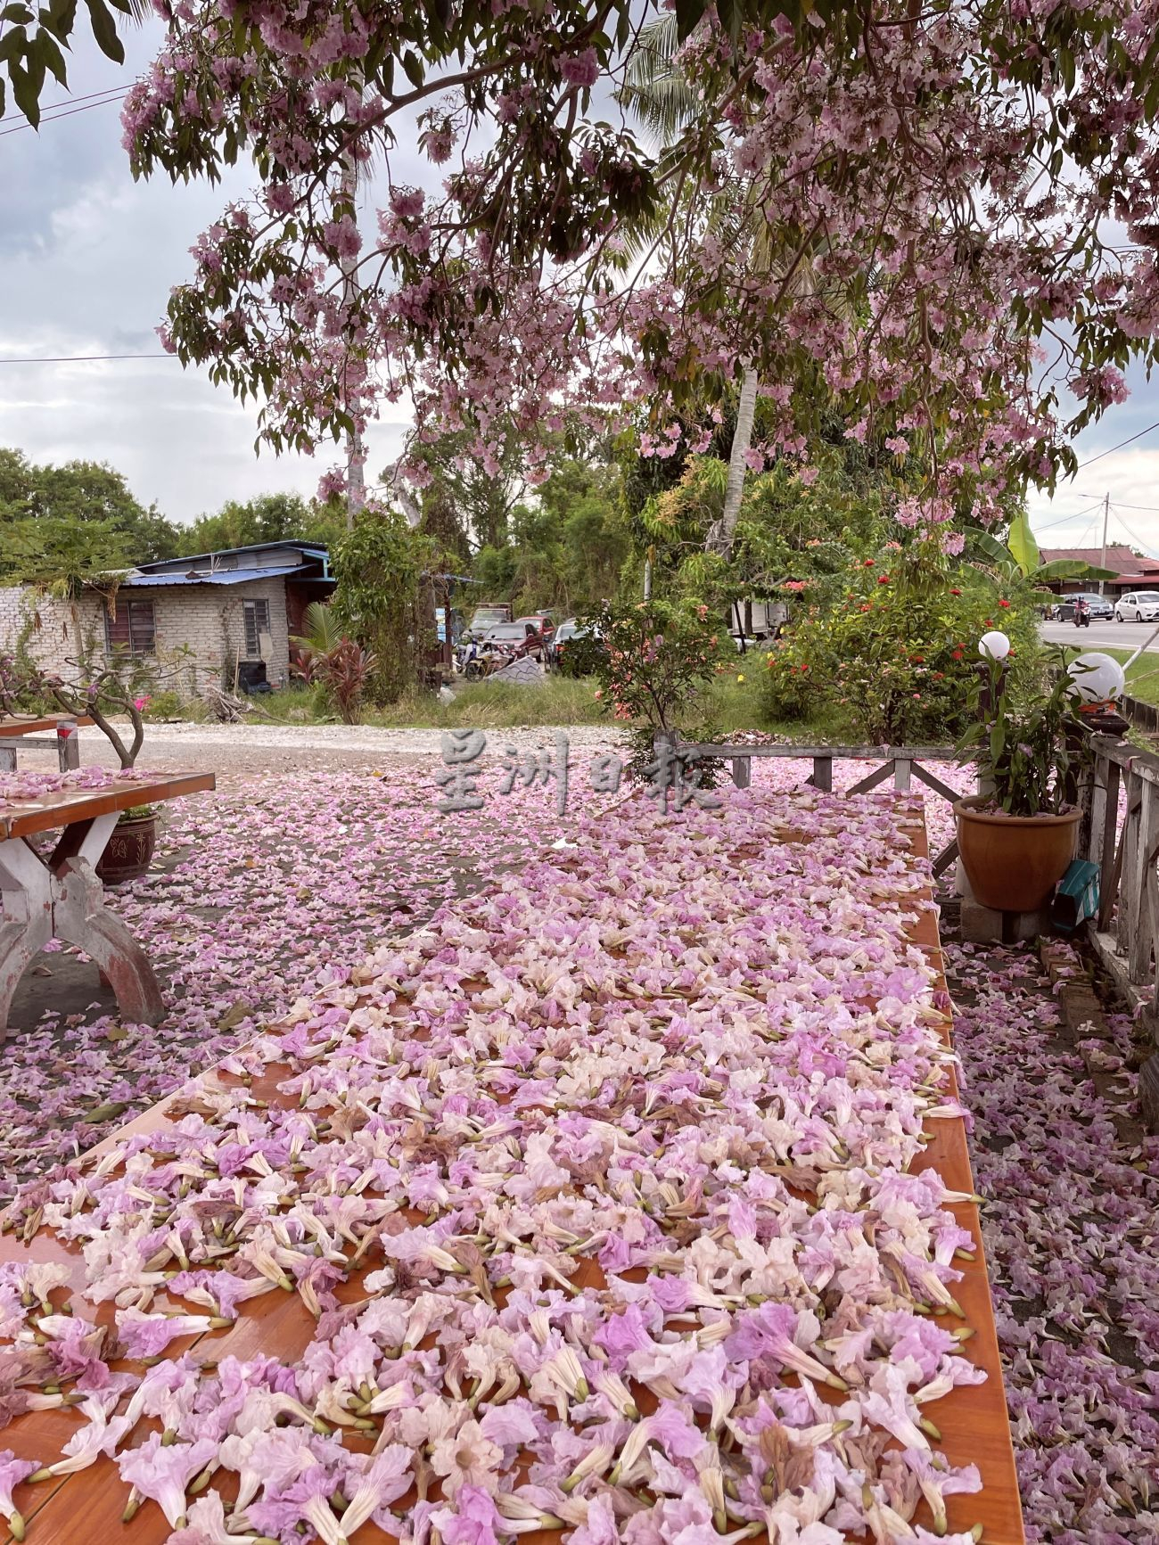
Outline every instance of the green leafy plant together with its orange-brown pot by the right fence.
<path id="1" fill-rule="evenodd" d="M 1074 797 L 1086 737 L 1076 678 L 1012 701 L 1001 661 L 989 658 L 980 712 L 961 739 L 983 793 L 953 813 L 958 853 L 977 901 L 997 912 L 1037 912 L 1074 859 L 1082 811 Z"/>

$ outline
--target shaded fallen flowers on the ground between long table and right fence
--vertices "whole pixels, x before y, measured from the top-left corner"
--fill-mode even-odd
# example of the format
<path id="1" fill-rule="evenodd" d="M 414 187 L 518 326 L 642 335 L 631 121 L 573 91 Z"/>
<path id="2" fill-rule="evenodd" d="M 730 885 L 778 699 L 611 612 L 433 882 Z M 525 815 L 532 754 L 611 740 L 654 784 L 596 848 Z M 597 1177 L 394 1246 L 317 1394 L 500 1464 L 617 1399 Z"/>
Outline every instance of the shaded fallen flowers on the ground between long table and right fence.
<path id="1" fill-rule="evenodd" d="M 953 1038 L 1028 1536 L 1159 1539 L 1159 1142 L 1133 1109 L 1130 1021 L 1099 1089 L 1025 950 L 947 952 Z"/>

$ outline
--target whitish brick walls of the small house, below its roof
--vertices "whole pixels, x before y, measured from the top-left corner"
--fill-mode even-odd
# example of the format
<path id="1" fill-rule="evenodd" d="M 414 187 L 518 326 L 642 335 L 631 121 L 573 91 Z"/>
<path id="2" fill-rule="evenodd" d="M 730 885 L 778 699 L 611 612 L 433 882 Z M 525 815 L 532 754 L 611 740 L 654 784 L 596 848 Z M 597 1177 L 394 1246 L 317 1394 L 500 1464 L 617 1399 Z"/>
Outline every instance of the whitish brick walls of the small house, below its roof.
<path id="1" fill-rule="evenodd" d="M 289 629 L 286 624 L 286 581 L 255 579 L 244 584 L 175 584 L 133 586 L 121 592 L 121 599 L 151 601 L 156 626 L 158 661 L 167 667 L 176 650 L 190 650 L 189 666 L 178 672 L 182 695 L 195 694 L 207 681 L 216 681 L 223 657 L 236 652 L 246 658 L 244 601 L 269 601 L 270 647 L 266 652 L 266 675 L 281 686 L 289 674 Z M 31 590 L 0 589 L 0 650 L 11 650 L 25 624 L 34 616 L 37 626 L 29 640 L 29 652 L 42 664 L 62 674 L 70 657 L 77 652 L 80 637 L 96 637 L 104 647 L 104 601 L 83 595 L 76 604 L 37 596 Z M 168 681 L 164 683 L 170 686 Z M 232 688 L 232 681 L 226 683 Z"/>

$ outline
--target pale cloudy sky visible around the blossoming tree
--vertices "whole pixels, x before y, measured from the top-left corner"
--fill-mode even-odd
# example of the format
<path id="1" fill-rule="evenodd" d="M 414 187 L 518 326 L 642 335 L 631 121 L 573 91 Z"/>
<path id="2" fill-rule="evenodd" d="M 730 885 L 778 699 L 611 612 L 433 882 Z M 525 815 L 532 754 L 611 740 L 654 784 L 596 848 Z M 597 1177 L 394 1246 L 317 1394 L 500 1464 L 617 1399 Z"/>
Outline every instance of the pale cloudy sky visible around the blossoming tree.
<path id="1" fill-rule="evenodd" d="M 80 39 L 70 60 L 71 97 L 49 83 L 43 102 L 82 110 L 39 134 L 11 113 L 0 125 L 0 445 L 19 445 L 36 460 L 108 460 L 145 504 L 156 499 L 168 516 L 192 521 L 226 499 L 309 494 L 337 451 L 317 460 L 257 457 L 253 405 L 240 406 L 172 358 L 6 363 L 156 351 L 153 329 L 170 287 L 190 273 L 195 236 L 229 198 L 249 190 L 244 173 L 216 188 L 134 184 L 117 105 L 80 100 L 124 88 L 155 53 L 158 32 L 158 23 L 130 32 L 124 68 Z M 1131 399 L 1077 440 L 1086 465 L 1076 480 L 1052 502 L 1032 496 L 1043 545 L 1097 544 L 1110 493 L 1110 539 L 1159 553 L 1159 430 L 1102 454 L 1159 420 L 1159 383 L 1139 371 L 1130 380 Z M 372 473 L 399 454 L 405 434 L 399 409 L 386 414 L 391 422 L 369 436 Z"/>

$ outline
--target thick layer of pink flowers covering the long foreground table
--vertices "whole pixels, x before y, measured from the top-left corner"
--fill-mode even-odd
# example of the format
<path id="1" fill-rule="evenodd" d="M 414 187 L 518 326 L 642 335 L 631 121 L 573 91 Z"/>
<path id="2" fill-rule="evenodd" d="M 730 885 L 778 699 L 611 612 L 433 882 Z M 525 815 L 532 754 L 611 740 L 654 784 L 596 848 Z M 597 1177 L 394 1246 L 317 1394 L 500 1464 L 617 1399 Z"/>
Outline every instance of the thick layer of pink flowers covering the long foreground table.
<path id="1" fill-rule="evenodd" d="M 8 1491 L 114 1457 L 175 1545 L 932 1545 L 980 1477 L 923 1407 L 981 1375 L 964 1197 L 907 1173 L 960 1108 L 899 820 L 607 814 L 29 1188 L 15 1228 L 79 1247 L 83 1307 L 65 1264 L 0 1268 L 9 1415 L 76 1403 Z M 281 1292 L 300 1357 L 185 1355 Z"/>

